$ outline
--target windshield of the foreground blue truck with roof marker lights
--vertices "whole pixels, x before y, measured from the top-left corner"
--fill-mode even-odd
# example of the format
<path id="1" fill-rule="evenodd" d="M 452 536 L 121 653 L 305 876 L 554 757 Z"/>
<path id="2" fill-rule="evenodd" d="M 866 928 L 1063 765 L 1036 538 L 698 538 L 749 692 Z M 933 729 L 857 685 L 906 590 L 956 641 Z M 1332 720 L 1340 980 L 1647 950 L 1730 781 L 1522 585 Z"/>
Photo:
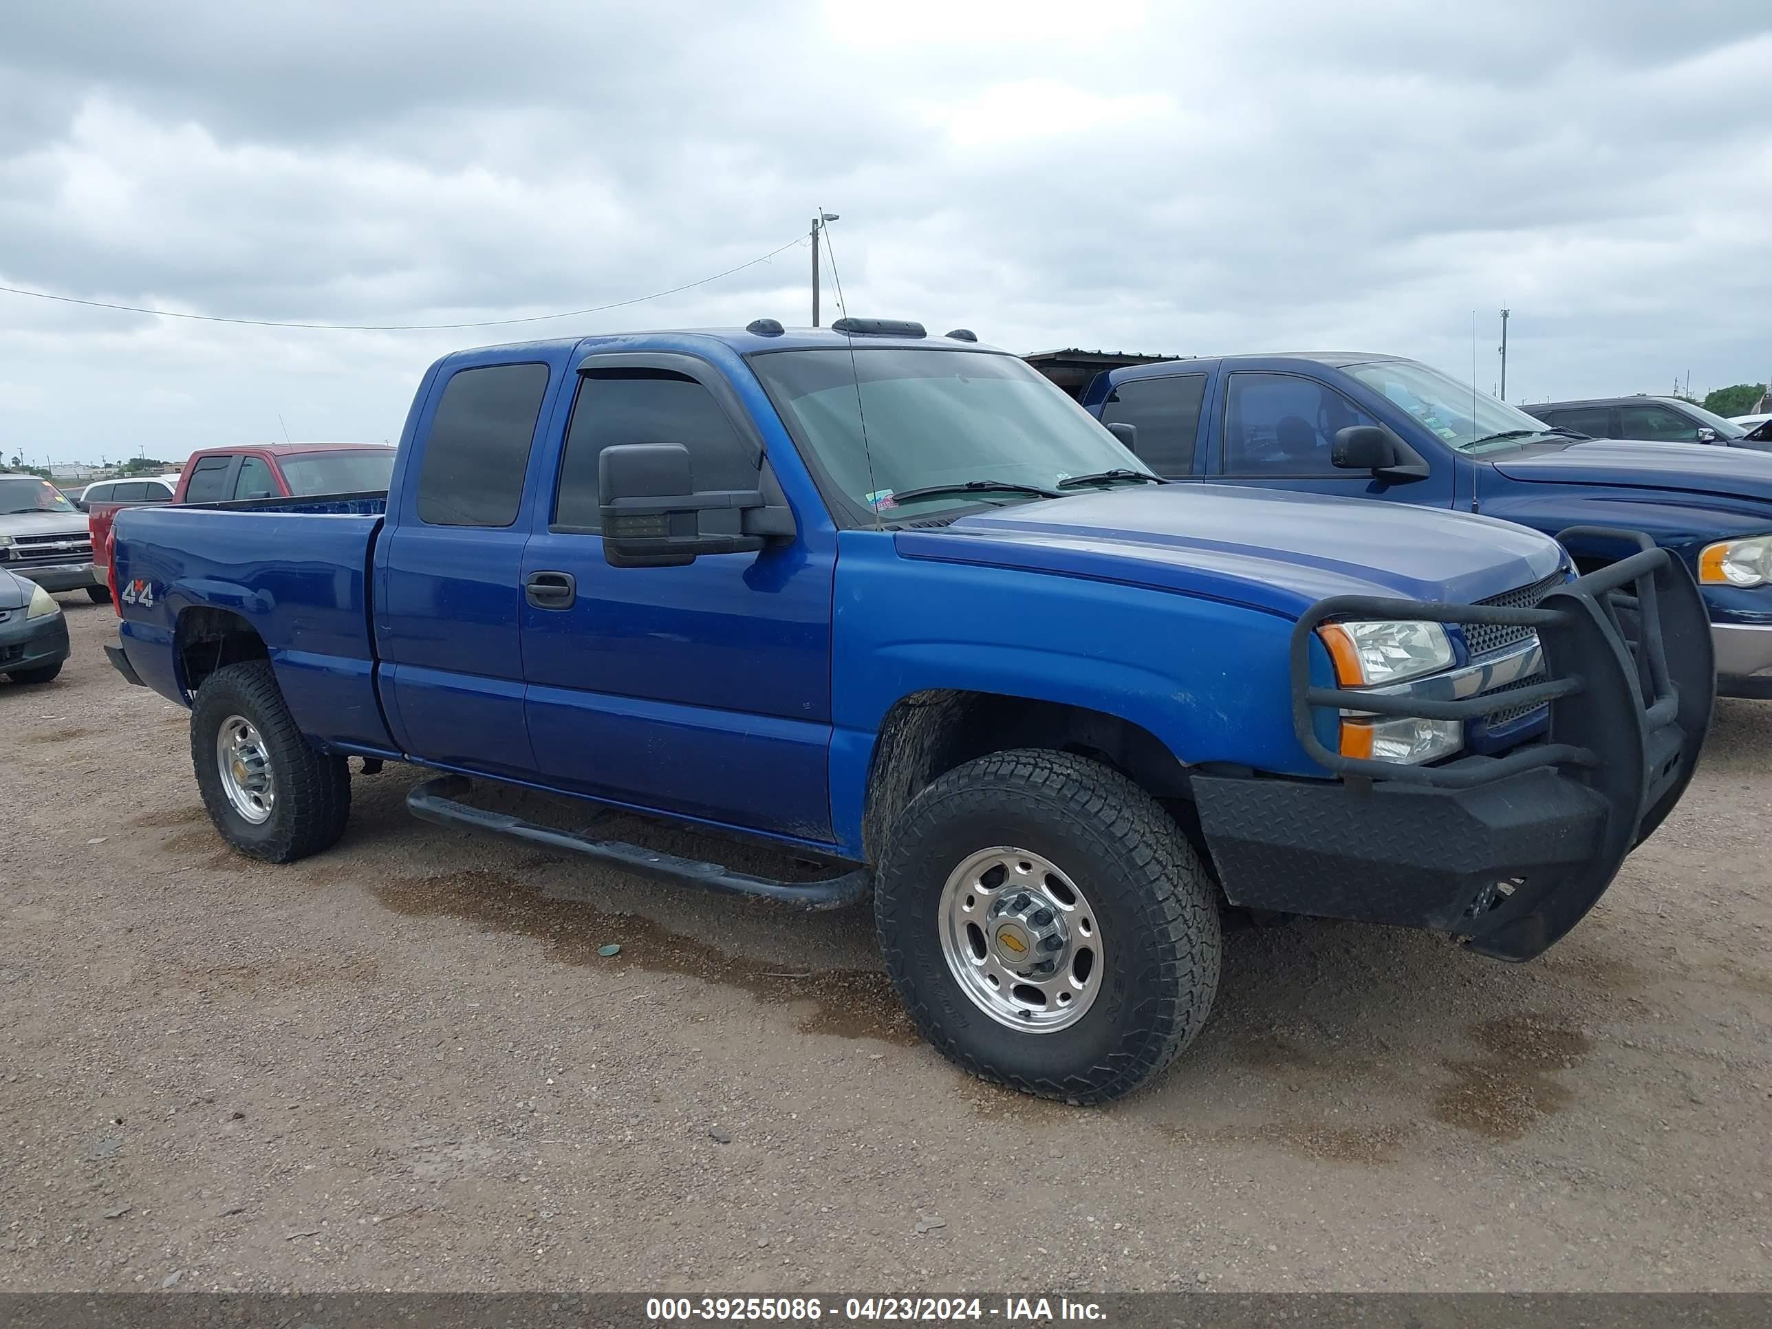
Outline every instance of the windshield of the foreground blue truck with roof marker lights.
<path id="1" fill-rule="evenodd" d="M 983 480 L 1054 489 L 1108 470 L 1150 475 L 1093 416 L 1014 356 L 856 347 L 854 356 L 773 351 L 753 356 L 751 367 L 831 484 L 888 519 L 1040 496 L 992 487 L 895 498 L 929 486 Z"/>

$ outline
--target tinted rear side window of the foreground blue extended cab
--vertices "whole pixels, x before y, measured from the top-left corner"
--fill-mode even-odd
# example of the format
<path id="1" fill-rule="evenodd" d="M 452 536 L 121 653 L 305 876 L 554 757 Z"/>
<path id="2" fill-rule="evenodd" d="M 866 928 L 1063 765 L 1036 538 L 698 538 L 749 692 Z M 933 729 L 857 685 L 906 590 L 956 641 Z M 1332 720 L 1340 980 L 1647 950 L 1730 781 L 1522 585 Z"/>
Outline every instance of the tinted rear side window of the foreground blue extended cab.
<path id="1" fill-rule="evenodd" d="M 418 470 L 418 519 L 509 526 L 523 503 L 548 365 L 462 369 L 443 388 Z"/>

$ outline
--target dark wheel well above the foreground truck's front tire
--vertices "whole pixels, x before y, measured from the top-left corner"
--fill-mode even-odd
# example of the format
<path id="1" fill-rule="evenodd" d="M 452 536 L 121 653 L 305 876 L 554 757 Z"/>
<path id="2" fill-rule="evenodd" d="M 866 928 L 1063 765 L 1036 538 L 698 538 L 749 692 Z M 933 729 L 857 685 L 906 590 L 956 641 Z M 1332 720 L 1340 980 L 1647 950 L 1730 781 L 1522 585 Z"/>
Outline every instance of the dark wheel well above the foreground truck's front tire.
<path id="1" fill-rule="evenodd" d="M 867 859 L 879 861 L 888 828 L 939 776 L 1019 748 L 1090 757 L 1164 803 L 1189 797 L 1187 767 L 1141 725 L 1063 702 L 934 688 L 900 698 L 881 721 L 861 822 Z"/>

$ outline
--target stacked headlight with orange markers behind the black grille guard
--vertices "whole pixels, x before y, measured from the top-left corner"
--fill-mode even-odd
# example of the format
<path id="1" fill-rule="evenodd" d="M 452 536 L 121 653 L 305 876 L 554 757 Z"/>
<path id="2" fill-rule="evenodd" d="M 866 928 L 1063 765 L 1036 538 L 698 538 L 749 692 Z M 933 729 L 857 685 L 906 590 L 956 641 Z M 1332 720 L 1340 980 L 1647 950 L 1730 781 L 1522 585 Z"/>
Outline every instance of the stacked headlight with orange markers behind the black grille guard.
<path id="1" fill-rule="evenodd" d="M 1455 661 L 1451 638 L 1434 622 L 1324 624 L 1317 636 L 1341 688 L 1405 682 L 1448 670 Z M 1343 757 L 1419 766 L 1462 750 L 1464 725 L 1418 716 L 1343 716 L 1340 748 Z"/>

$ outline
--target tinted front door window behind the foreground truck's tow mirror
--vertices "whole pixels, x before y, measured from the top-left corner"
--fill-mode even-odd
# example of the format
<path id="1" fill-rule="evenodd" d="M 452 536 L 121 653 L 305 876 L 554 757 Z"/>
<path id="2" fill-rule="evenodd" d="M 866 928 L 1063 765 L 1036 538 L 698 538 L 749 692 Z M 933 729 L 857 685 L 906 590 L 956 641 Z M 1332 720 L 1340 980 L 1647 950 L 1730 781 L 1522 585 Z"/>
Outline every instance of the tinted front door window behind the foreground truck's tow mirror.
<path id="1" fill-rule="evenodd" d="M 714 393 L 664 369 L 583 374 L 560 459 L 556 526 L 601 530 L 597 457 L 620 443 L 682 443 L 696 489 L 755 489 L 757 466 Z"/>

